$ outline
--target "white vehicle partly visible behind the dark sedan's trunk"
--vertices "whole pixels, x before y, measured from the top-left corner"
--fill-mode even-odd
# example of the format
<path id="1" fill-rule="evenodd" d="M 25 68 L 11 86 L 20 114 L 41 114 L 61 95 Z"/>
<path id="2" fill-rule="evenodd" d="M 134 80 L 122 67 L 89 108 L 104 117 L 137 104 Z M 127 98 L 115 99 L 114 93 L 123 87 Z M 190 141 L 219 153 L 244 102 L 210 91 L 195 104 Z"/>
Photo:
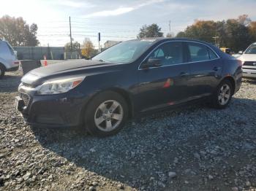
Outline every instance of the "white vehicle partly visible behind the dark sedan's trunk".
<path id="1" fill-rule="evenodd" d="M 256 42 L 251 44 L 244 52 L 240 51 L 238 58 L 243 63 L 243 77 L 256 78 Z"/>

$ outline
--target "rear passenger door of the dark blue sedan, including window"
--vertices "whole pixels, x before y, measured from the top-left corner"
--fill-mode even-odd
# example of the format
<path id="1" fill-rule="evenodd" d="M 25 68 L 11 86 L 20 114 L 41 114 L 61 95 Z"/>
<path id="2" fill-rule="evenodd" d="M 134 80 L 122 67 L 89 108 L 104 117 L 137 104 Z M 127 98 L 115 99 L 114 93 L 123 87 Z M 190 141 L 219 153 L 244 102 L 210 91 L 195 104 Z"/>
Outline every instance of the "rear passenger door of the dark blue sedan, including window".
<path id="1" fill-rule="evenodd" d="M 217 87 L 222 72 L 219 56 L 205 44 L 187 42 L 189 58 L 189 93 L 192 98 L 210 95 Z"/>

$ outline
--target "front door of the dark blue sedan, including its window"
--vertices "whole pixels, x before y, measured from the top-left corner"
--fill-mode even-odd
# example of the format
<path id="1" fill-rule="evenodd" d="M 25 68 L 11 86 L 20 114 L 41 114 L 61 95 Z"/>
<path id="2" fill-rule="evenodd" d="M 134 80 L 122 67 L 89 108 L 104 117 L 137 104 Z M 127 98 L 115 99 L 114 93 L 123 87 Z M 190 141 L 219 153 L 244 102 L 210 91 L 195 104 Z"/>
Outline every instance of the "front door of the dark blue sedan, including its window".
<path id="1" fill-rule="evenodd" d="M 160 59 L 162 66 L 143 69 L 148 58 Z M 186 59 L 183 42 L 165 42 L 151 52 L 138 71 L 140 111 L 178 104 L 187 98 L 189 63 Z"/>

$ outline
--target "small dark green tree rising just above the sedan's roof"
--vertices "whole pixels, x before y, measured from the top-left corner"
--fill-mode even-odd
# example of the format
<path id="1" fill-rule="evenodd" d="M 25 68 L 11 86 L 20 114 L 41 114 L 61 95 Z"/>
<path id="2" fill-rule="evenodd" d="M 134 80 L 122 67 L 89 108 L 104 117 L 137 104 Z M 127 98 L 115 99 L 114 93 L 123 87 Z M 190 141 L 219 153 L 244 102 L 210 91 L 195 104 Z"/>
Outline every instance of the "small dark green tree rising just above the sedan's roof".
<path id="1" fill-rule="evenodd" d="M 163 33 L 161 28 L 157 24 L 151 24 L 150 26 L 142 26 L 140 28 L 140 33 L 138 34 L 138 39 L 151 38 L 151 37 L 162 37 Z"/>

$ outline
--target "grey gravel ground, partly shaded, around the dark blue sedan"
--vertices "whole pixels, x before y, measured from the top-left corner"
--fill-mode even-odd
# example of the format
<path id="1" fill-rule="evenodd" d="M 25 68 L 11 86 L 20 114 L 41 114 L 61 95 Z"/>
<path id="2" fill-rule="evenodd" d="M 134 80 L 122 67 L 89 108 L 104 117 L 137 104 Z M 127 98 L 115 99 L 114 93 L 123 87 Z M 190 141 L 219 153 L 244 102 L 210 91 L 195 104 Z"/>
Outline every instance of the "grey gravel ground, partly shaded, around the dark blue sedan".
<path id="1" fill-rule="evenodd" d="M 105 139 L 25 125 L 19 82 L 0 80 L 0 190 L 256 190 L 254 80 L 225 110 L 160 112 Z"/>

